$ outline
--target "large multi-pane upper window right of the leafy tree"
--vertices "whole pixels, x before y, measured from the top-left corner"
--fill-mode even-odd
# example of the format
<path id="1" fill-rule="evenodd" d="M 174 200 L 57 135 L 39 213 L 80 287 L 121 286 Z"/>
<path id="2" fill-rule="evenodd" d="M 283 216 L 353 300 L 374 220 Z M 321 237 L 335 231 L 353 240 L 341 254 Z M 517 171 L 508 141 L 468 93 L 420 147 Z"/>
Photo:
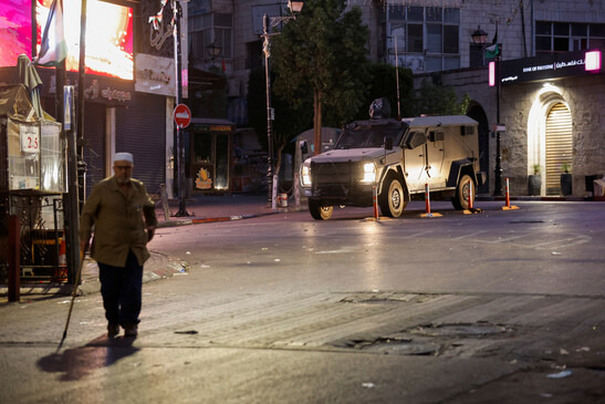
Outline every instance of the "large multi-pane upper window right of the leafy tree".
<path id="1" fill-rule="evenodd" d="M 386 46 L 394 48 L 397 37 L 403 65 L 415 72 L 460 68 L 460 9 L 389 6 L 387 15 L 390 41 Z M 395 54 L 395 50 L 388 49 L 387 54 Z"/>

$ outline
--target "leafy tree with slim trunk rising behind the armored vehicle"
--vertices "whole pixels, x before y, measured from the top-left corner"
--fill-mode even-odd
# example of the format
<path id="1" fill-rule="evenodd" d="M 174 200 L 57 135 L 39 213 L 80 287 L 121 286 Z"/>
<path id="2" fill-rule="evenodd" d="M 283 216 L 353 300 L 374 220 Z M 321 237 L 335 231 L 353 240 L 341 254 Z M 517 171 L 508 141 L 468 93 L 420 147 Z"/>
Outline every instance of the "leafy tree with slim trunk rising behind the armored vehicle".
<path id="1" fill-rule="evenodd" d="M 307 1 L 296 20 L 271 40 L 275 93 L 294 110 L 312 94 L 315 153 L 321 151 L 323 108 L 328 110 L 328 122 L 340 126 L 363 106 L 369 85 L 368 29 L 362 24 L 361 9 L 345 12 L 346 4 L 346 0 Z"/>

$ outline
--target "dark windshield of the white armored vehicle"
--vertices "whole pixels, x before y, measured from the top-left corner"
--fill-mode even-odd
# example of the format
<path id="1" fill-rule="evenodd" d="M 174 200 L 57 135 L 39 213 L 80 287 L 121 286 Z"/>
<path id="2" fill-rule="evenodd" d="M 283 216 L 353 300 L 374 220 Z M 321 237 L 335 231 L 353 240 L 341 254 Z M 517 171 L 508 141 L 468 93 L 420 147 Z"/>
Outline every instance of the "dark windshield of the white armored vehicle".
<path id="1" fill-rule="evenodd" d="M 403 127 L 351 126 L 343 131 L 334 148 L 383 147 L 387 138 L 398 146 L 403 134 Z"/>

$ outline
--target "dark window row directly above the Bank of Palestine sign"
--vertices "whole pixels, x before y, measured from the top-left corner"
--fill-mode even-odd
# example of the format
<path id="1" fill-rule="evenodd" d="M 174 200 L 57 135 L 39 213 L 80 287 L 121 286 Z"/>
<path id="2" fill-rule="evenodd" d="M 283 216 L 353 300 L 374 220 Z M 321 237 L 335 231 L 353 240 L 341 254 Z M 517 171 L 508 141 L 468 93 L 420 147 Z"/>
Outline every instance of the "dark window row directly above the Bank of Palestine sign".
<path id="1" fill-rule="evenodd" d="M 535 51 L 570 52 L 605 44 L 605 24 L 536 21 Z"/>

